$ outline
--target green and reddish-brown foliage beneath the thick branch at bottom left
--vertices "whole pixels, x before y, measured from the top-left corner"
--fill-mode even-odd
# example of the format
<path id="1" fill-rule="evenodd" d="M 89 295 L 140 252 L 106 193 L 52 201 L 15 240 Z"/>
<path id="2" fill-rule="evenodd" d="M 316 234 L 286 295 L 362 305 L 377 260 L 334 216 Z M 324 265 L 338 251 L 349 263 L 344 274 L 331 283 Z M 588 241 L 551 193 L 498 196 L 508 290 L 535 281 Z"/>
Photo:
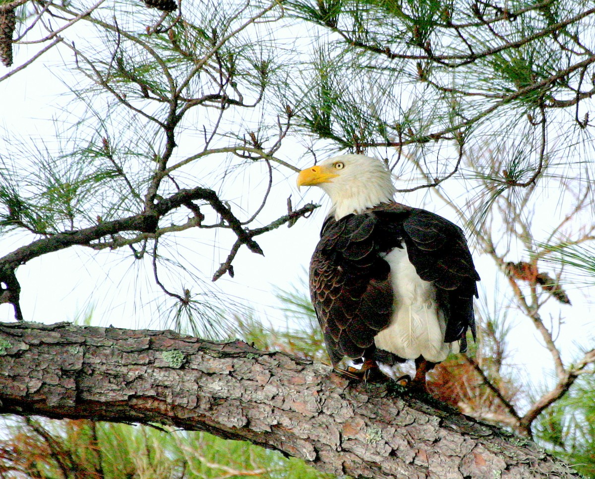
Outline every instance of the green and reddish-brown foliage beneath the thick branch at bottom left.
<path id="1" fill-rule="evenodd" d="M 43 479 L 322 479 L 303 461 L 211 434 L 91 421 L 17 419 L 0 474 Z M 4 476 L 3 476 L 4 477 Z"/>

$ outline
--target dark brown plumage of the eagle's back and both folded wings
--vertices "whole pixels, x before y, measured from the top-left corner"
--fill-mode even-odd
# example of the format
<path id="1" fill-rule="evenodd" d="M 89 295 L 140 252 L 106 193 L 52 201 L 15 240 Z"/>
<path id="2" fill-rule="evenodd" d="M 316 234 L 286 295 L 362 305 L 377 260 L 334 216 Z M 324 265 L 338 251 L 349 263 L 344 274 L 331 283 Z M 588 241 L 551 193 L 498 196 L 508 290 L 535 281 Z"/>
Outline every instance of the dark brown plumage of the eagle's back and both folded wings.
<path id="1" fill-rule="evenodd" d="M 432 281 L 446 317 L 446 342 L 474 332 L 475 271 L 462 230 L 431 212 L 383 204 L 339 221 L 327 218 L 310 264 L 310 293 L 333 364 L 372 357 L 390 323 L 393 289 L 384 256 L 407 246 L 418 275 Z"/>

